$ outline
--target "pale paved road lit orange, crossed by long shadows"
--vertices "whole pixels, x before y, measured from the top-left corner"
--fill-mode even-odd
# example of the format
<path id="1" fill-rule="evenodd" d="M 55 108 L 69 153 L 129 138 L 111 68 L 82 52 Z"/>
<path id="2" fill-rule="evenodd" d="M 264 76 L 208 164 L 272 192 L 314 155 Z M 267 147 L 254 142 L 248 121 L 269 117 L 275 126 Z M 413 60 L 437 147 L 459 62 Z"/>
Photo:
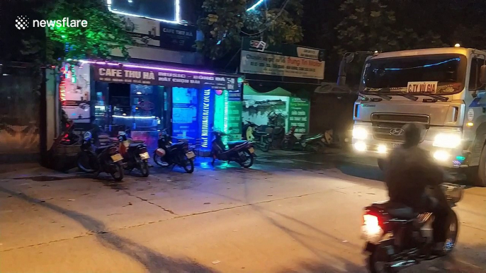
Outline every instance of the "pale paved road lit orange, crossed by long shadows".
<path id="1" fill-rule="evenodd" d="M 196 168 L 121 183 L 42 168 L 0 175 L 0 272 L 366 272 L 361 214 L 386 198 L 374 161 Z M 466 190 L 456 212 L 453 255 L 402 272 L 486 272 L 486 189 Z"/>

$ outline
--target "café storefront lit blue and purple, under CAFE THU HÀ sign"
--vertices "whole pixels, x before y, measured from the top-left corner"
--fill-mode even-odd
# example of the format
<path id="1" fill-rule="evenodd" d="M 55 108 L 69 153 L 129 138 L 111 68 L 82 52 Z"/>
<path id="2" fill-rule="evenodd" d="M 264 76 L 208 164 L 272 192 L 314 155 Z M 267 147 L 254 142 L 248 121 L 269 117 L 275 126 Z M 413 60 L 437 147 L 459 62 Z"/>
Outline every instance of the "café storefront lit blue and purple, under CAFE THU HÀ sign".
<path id="1" fill-rule="evenodd" d="M 78 69 L 86 71 L 86 66 L 89 120 L 112 135 L 131 129 L 132 138 L 146 141 L 149 149 L 157 146 L 161 129 L 201 149 L 210 148 L 215 129 L 230 133 L 230 139 L 241 136 L 242 80 L 237 75 L 94 61 L 81 61 Z M 70 117 L 82 124 L 86 115 Z"/>

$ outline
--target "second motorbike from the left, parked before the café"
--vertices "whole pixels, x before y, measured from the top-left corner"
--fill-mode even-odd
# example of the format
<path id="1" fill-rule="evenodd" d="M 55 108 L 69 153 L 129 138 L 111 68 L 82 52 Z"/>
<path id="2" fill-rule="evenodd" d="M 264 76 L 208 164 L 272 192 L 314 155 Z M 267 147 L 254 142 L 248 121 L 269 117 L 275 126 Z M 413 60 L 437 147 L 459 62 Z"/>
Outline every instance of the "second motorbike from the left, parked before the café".
<path id="1" fill-rule="evenodd" d="M 130 130 L 118 134 L 118 150 L 123 156 L 123 168 L 132 171 L 137 168 L 144 178 L 149 176 L 149 152 L 143 142 L 134 142 L 130 138 Z"/>

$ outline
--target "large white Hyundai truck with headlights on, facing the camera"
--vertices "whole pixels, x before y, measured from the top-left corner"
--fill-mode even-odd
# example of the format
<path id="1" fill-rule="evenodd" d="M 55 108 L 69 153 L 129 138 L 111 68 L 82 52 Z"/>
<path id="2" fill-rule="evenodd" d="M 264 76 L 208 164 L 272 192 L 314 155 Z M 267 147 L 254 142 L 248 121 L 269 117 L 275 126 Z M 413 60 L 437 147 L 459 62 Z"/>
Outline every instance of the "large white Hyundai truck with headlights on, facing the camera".
<path id="1" fill-rule="evenodd" d="M 423 125 L 419 145 L 440 165 L 486 187 L 486 51 L 451 47 L 368 57 L 354 105 L 354 151 L 378 158 L 383 169 L 409 122 Z"/>

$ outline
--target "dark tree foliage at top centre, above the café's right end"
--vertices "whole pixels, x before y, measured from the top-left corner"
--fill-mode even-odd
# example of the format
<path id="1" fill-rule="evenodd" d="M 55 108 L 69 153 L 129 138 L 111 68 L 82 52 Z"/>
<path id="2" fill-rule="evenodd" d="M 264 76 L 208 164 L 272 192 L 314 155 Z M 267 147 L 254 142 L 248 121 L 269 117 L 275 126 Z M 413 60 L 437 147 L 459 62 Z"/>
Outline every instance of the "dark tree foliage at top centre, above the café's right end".
<path id="1" fill-rule="evenodd" d="M 300 0 L 266 1 L 247 11 L 254 1 L 205 0 L 198 27 L 204 40 L 196 46 L 210 59 L 220 59 L 239 48 L 243 36 L 259 37 L 270 44 L 295 43 L 303 38 Z M 285 4 L 285 5 L 284 5 Z"/>

